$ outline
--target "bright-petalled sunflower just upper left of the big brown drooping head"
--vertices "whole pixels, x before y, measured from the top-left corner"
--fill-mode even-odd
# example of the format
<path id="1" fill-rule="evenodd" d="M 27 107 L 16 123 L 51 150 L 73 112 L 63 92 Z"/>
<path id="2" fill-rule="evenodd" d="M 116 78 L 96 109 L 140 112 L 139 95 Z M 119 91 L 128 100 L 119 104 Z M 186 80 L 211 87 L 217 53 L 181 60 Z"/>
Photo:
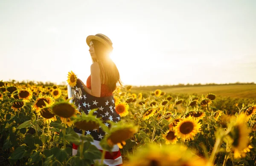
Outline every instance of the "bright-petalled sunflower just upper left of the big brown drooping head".
<path id="1" fill-rule="evenodd" d="M 50 96 L 42 96 L 40 93 L 38 98 L 35 100 L 34 105 L 32 106 L 32 110 L 35 110 L 36 112 L 39 112 L 43 107 L 45 106 L 51 106 L 55 100 Z M 47 103 L 47 105 L 46 105 Z"/>

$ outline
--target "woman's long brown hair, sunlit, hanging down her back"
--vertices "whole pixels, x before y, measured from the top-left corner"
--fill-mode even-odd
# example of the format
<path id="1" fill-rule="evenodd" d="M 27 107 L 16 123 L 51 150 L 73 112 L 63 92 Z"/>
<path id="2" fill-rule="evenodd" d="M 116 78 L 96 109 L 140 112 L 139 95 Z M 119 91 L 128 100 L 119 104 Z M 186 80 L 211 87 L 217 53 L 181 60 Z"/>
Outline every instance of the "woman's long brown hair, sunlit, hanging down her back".
<path id="1" fill-rule="evenodd" d="M 123 87 L 116 64 L 109 57 L 112 50 L 98 40 L 92 40 L 92 42 L 97 57 L 93 63 L 96 61 L 99 63 L 101 80 L 105 78 L 105 82 L 102 81 L 102 83 L 107 85 L 111 92 L 116 90 L 118 86 Z"/>

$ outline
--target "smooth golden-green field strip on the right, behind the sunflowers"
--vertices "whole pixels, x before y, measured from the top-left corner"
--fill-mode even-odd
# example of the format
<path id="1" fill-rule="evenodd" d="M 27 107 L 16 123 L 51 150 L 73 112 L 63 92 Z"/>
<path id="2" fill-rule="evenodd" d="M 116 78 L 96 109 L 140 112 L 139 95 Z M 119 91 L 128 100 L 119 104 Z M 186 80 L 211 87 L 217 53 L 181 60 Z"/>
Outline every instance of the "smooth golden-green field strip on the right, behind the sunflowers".
<path id="1" fill-rule="evenodd" d="M 256 85 L 215 85 L 215 86 L 190 86 L 190 87 L 169 87 L 161 88 L 156 86 L 155 89 L 160 89 L 166 93 L 186 93 L 198 95 L 213 93 L 218 96 L 224 97 L 237 97 L 237 98 L 250 98 L 256 100 Z M 155 90 L 154 89 L 154 90 Z M 150 89 L 145 89 L 145 87 L 136 87 L 134 90 L 138 91 L 154 91 L 152 87 Z"/>

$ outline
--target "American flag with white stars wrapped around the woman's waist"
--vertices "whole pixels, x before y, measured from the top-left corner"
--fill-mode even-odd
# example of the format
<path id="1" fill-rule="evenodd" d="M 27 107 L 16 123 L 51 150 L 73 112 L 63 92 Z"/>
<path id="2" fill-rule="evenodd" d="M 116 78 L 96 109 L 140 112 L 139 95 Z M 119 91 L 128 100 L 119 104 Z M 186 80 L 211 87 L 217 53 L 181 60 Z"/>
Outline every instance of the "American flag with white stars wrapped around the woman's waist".
<path id="1" fill-rule="evenodd" d="M 73 100 L 70 100 L 70 103 L 74 103 L 77 106 L 77 109 L 80 112 L 84 112 L 88 114 L 93 109 L 98 108 L 98 110 L 94 111 L 94 115 L 96 117 L 101 117 L 103 123 L 110 127 L 110 124 L 106 122 L 107 120 L 111 120 L 113 122 L 119 122 L 121 120 L 120 115 L 115 111 L 115 102 L 114 97 L 95 97 L 88 94 L 84 87 L 82 86 L 81 82 L 77 82 L 76 86 L 70 87 L 68 85 L 68 97 L 71 98 L 74 96 Z M 74 131 L 80 136 L 82 131 L 74 127 Z M 102 131 L 101 128 L 99 130 L 93 129 L 85 131 L 85 135 L 92 135 L 93 142 L 92 144 L 95 145 L 101 152 L 103 151 L 102 147 L 100 146 L 100 141 L 105 136 L 105 132 Z M 78 146 L 73 143 L 73 154 L 77 154 Z M 96 161 L 96 160 L 95 160 Z M 100 160 L 98 160 L 100 161 Z M 111 152 L 106 152 L 105 159 L 103 161 L 104 164 L 108 166 L 120 166 L 122 165 L 122 156 L 117 145 L 113 146 Z"/>

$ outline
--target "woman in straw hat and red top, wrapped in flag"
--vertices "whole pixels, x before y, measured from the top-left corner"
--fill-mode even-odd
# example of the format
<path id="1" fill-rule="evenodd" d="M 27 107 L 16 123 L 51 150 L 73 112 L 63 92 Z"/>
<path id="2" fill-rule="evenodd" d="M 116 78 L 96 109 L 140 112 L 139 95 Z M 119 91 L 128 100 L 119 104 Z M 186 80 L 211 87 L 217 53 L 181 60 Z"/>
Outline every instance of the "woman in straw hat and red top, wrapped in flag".
<path id="1" fill-rule="evenodd" d="M 80 111 L 85 113 L 99 108 L 94 114 L 101 117 L 103 121 L 120 121 L 119 114 L 115 111 L 113 91 L 117 86 L 122 86 L 119 78 L 119 72 L 115 63 L 110 59 L 110 53 L 113 50 L 111 40 L 104 34 L 90 35 L 86 39 L 89 46 L 89 52 L 93 61 L 90 66 L 90 76 L 87 78 L 87 86 L 80 80 L 77 80 L 75 103 Z M 104 122 L 105 123 L 105 122 Z M 108 123 L 105 123 L 109 127 Z M 79 135 L 81 131 L 74 128 Z M 92 131 L 86 131 L 86 135 L 93 136 L 93 144 L 102 151 L 99 145 L 100 140 L 105 135 L 101 128 Z M 76 155 L 77 148 L 73 144 L 73 155 Z M 122 164 L 122 156 L 119 147 L 115 145 L 112 152 L 106 152 L 104 164 L 108 166 L 117 166 Z"/>

